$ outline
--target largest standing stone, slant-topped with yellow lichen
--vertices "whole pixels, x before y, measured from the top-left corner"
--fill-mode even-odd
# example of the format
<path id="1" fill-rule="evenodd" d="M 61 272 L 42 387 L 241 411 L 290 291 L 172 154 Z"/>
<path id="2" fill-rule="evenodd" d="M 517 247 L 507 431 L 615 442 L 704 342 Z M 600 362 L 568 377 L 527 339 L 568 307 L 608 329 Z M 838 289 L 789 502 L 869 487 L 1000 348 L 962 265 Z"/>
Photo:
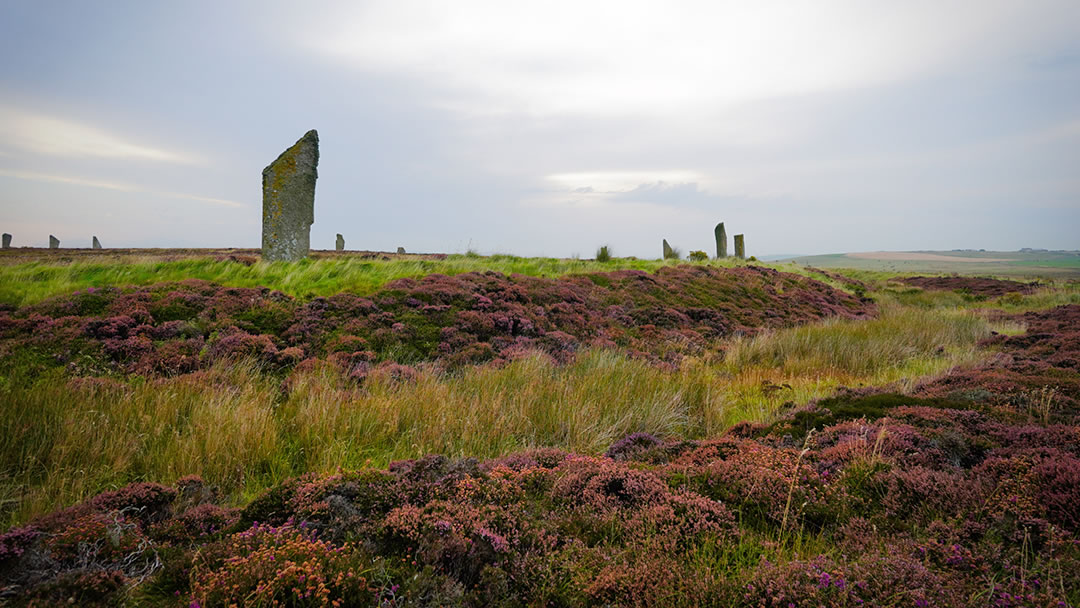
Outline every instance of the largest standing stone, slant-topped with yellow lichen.
<path id="1" fill-rule="evenodd" d="M 319 133 L 311 130 L 262 170 L 262 259 L 308 257 L 318 167 Z"/>

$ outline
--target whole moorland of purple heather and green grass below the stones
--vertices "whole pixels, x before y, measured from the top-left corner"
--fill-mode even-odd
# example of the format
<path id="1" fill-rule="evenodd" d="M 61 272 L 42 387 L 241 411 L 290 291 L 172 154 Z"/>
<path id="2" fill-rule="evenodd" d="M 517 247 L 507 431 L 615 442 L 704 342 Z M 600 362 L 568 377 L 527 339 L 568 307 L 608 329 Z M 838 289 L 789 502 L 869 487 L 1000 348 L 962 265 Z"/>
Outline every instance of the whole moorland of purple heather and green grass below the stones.
<path id="1" fill-rule="evenodd" d="M 1074 284 L 249 261 L 0 269 L 0 600 L 1080 603 Z"/>

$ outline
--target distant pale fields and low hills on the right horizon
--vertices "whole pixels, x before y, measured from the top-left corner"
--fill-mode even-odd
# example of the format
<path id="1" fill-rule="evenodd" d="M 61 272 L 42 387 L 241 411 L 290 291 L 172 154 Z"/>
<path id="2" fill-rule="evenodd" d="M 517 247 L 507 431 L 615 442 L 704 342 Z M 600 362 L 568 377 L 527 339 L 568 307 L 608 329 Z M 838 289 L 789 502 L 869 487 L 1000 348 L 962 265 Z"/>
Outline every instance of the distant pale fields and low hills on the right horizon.
<path id="1" fill-rule="evenodd" d="M 1080 278 L 1080 252 L 864 252 L 789 258 L 816 268 L 1002 276 Z"/>

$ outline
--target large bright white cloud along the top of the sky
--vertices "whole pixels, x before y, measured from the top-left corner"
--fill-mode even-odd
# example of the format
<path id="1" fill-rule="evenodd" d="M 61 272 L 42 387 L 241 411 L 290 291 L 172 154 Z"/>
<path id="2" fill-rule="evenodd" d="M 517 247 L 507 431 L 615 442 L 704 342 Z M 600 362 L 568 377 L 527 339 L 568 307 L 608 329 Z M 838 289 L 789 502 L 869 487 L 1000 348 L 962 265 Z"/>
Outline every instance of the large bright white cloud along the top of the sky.
<path id="1" fill-rule="evenodd" d="M 467 113 L 650 114 L 874 86 L 1067 43 L 1071 0 L 396 0 L 345 5 L 299 43 L 434 84 Z M 918 41 L 918 43 L 913 43 Z"/>

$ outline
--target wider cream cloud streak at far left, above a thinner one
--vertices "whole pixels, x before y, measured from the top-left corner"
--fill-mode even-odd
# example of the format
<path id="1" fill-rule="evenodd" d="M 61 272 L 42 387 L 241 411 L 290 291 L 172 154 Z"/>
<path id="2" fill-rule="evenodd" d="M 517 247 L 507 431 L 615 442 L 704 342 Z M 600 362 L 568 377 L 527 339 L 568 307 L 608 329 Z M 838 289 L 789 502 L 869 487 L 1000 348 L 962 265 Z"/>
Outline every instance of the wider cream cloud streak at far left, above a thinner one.
<path id="1" fill-rule="evenodd" d="M 45 157 L 145 160 L 190 164 L 198 159 L 135 144 L 96 126 L 0 107 L 0 146 Z"/>

